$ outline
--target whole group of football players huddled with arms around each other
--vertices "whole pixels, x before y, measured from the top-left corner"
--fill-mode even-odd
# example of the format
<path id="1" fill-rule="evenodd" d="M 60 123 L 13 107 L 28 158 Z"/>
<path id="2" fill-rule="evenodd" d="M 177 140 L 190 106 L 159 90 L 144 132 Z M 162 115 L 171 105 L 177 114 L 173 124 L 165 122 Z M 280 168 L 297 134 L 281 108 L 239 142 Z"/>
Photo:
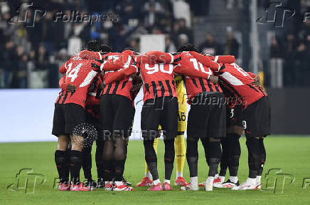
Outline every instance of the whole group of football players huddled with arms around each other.
<path id="1" fill-rule="evenodd" d="M 171 190 L 176 161 L 175 184 L 184 191 L 196 191 L 199 186 L 204 186 L 205 191 L 212 191 L 213 187 L 261 189 L 266 159 L 264 137 L 270 132 L 268 95 L 260 86 L 260 78 L 240 68 L 234 56 L 209 56 L 199 53 L 193 45 L 180 46 L 175 53 L 141 54 L 132 48 L 113 53 L 109 46 L 89 41 L 85 50 L 63 64 L 60 73 L 64 75 L 55 102 L 52 131 L 58 137 L 55 164 L 59 190 L 134 190 L 123 174 L 134 120 L 134 98 L 141 86 L 146 170 L 137 186 L 151 186 L 149 191 Z M 188 119 L 186 102 L 191 105 Z M 96 137 L 87 125 L 95 127 Z M 240 184 L 237 172 L 243 131 L 249 175 Z M 161 135 L 165 144 L 163 183 L 156 156 Z M 96 141 L 97 183 L 91 174 L 92 143 L 80 143 L 90 139 Z M 209 167 L 208 178 L 200 184 L 199 139 Z M 191 177 L 188 183 L 183 178 L 185 158 Z M 81 168 L 86 183 L 80 182 Z M 227 169 L 230 177 L 225 182 Z"/>

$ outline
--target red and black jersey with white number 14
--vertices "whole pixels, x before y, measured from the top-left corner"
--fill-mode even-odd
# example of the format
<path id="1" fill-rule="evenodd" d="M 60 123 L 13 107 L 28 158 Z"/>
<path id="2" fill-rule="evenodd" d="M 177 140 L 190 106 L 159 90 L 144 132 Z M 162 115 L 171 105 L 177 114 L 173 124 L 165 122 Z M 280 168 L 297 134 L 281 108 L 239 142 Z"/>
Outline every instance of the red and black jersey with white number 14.
<path id="1" fill-rule="evenodd" d="M 101 64 L 95 60 L 85 60 L 80 56 L 73 56 L 64 65 L 66 69 L 64 83 L 75 85 L 77 89 L 75 92 L 62 90 L 55 103 L 75 103 L 85 107 L 88 87 L 92 79 L 97 75 L 97 72 L 92 67 Z"/>

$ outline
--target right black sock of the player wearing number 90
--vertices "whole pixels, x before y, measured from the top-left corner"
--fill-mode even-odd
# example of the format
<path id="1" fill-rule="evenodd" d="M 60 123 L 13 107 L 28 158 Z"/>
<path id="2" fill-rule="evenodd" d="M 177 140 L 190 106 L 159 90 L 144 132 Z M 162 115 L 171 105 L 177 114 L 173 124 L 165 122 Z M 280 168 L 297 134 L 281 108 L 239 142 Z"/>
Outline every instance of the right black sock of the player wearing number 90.
<path id="1" fill-rule="evenodd" d="M 170 180 L 173 171 L 174 163 L 174 138 L 171 140 L 164 140 L 165 142 L 165 179 Z"/>

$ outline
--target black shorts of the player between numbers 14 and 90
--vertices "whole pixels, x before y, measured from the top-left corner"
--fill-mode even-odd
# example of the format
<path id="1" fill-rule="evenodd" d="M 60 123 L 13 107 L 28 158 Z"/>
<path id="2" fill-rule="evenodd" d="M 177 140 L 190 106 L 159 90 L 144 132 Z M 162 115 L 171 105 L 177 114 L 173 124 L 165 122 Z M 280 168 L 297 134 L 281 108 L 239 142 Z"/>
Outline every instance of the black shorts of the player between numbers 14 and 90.
<path id="1" fill-rule="evenodd" d="M 100 116 L 104 135 L 116 133 L 128 137 L 134 116 L 132 107 L 132 101 L 122 95 L 102 95 Z"/>

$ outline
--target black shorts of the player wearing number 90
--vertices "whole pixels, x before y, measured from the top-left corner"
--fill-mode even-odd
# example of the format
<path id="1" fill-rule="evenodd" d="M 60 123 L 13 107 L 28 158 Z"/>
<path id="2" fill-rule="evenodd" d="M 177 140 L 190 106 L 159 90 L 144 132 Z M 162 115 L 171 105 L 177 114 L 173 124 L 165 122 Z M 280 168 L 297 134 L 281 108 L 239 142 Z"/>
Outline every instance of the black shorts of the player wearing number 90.
<path id="1" fill-rule="evenodd" d="M 165 140 L 176 137 L 178 131 L 178 99 L 175 97 L 160 97 L 149 99 L 144 102 L 141 111 L 142 137 L 153 140 L 158 137 L 158 128 Z"/>

